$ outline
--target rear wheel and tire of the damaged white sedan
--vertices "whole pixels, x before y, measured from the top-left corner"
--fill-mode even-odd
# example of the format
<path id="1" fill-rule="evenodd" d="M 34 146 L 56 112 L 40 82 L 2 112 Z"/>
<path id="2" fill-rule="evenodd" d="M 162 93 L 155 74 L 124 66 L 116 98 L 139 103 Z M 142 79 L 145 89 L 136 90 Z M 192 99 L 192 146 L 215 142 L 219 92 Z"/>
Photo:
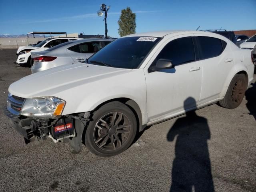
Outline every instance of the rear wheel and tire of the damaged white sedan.
<path id="1" fill-rule="evenodd" d="M 245 74 L 236 74 L 228 86 L 228 90 L 223 100 L 219 101 L 220 106 L 228 109 L 237 108 L 243 98 L 248 86 Z"/>

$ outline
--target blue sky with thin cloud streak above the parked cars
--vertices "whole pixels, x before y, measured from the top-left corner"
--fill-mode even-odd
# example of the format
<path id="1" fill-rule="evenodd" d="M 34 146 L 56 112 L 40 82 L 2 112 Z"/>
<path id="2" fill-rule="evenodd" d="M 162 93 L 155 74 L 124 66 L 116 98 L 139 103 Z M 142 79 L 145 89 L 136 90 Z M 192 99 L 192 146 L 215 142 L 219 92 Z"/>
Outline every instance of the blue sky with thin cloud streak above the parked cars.
<path id="1" fill-rule="evenodd" d="M 256 29 L 256 0 L 0 0 L 0 34 L 32 31 L 104 34 L 100 4 L 111 5 L 108 35 L 119 37 L 120 11 L 136 12 L 136 32 Z"/>

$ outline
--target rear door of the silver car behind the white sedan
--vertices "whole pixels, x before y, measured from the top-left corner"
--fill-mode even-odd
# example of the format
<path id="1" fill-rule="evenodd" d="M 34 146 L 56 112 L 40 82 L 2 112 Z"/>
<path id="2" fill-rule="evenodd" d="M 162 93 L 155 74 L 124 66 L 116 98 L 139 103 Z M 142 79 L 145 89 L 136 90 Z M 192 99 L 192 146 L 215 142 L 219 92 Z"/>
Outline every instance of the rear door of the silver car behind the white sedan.
<path id="1" fill-rule="evenodd" d="M 74 61 L 84 62 L 101 49 L 100 42 L 85 42 L 67 49 Z"/>

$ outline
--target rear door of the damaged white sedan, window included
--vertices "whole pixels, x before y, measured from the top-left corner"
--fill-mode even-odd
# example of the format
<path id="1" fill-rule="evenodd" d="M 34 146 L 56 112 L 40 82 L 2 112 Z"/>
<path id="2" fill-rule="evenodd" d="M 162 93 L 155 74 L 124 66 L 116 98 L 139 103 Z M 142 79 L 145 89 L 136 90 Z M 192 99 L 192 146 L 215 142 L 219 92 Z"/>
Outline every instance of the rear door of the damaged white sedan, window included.
<path id="1" fill-rule="evenodd" d="M 200 105 L 219 98 L 227 74 L 234 64 L 234 55 L 228 41 L 204 34 L 195 36 L 203 68 Z"/>

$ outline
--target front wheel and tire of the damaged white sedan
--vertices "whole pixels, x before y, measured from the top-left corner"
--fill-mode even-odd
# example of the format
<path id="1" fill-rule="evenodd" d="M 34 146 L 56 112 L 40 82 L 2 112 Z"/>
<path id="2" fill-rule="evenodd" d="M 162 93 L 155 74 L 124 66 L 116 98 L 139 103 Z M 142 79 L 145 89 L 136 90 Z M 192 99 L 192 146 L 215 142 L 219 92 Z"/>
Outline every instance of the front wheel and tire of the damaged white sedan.
<path id="1" fill-rule="evenodd" d="M 93 112 L 84 142 L 90 152 L 98 156 L 115 156 L 124 152 L 132 144 L 136 132 L 137 122 L 132 110 L 125 104 L 114 101 Z"/>

